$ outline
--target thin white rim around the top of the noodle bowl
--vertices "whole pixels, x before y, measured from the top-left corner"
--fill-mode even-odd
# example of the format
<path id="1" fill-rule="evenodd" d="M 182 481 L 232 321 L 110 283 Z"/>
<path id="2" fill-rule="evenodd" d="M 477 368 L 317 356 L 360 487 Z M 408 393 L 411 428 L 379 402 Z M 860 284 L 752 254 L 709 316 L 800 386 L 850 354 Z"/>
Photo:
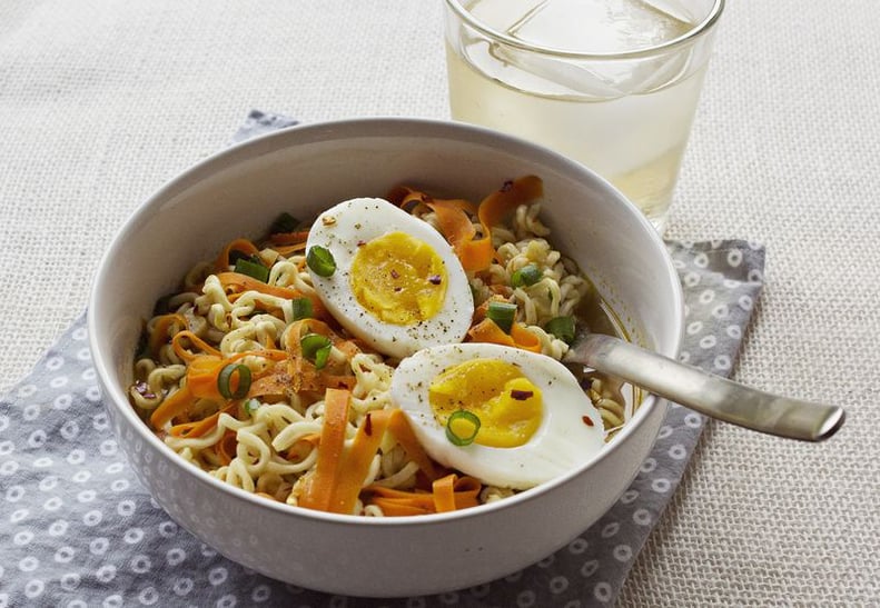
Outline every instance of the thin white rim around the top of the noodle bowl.
<path id="1" fill-rule="evenodd" d="M 347 137 L 369 138 L 369 137 L 435 137 L 441 139 L 452 139 L 479 146 L 503 144 L 508 147 L 518 148 L 521 150 L 528 150 L 530 155 L 534 156 L 536 163 L 550 163 L 561 173 L 573 176 L 580 173 L 589 180 L 599 181 L 603 187 L 609 190 L 609 193 L 620 199 L 624 206 L 630 208 L 631 213 L 636 216 L 641 229 L 646 238 L 653 242 L 654 247 L 662 251 L 663 265 L 666 268 L 666 278 L 672 292 L 676 296 L 673 305 L 674 323 L 673 343 L 671 345 L 670 352 L 666 355 L 675 357 L 681 350 L 681 345 L 684 335 L 684 299 L 681 282 L 678 279 L 678 272 L 672 263 L 662 238 L 656 232 L 650 221 L 637 210 L 637 208 L 630 202 L 616 188 L 614 188 L 607 180 L 584 167 L 583 165 L 558 153 L 550 150 L 543 146 L 530 142 L 516 136 L 511 136 L 469 123 L 428 119 L 428 118 L 411 118 L 411 117 L 365 117 L 352 119 L 336 119 L 325 120 L 308 123 L 297 123 L 291 127 L 286 127 L 277 131 L 261 133 L 245 141 L 235 142 L 227 148 L 224 148 L 212 155 L 205 157 L 194 165 L 185 168 L 175 177 L 167 180 L 159 189 L 155 190 L 150 196 L 144 199 L 134 210 L 134 212 L 123 221 L 116 235 L 111 238 L 103 255 L 100 258 L 97 270 L 93 273 L 92 283 L 90 288 L 88 310 L 87 310 L 87 328 L 89 336 L 89 345 L 93 359 L 95 369 L 100 385 L 103 387 L 102 402 L 106 408 L 112 407 L 120 413 L 129 423 L 130 427 L 136 429 L 138 439 L 149 443 L 159 453 L 167 457 L 169 464 L 172 464 L 182 475 L 192 476 L 195 480 L 210 486 L 215 490 L 219 490 L 231 499 L 249 502 L 254 506 L 268 508 L 278 511 L 280 515 L 293 518 L 301 518 L 305 520 L 319 520 L 328 524 L 337 525 L 357 525 L 369 527 L 408 527 L 408 526 L 424 526 L 424 525 L 441 525 L 451 520 L 461 520 L 463 518 L 484 517 L 496 510 L 505 510 L 514 508 L 516 505 L 530 500 L 537 499 L 544 494 L 547 494 L 557 486 L 567 484 L 572 478 L 582 475 L 583 472 L 594 468 L 602 460 L 610 458 L 612 453 L 620 449 L 626 442 L 626 438 L 635 432 L 635 430 L 644 422 L 650 412 L 657 407 L 662 407 L 664 399 L 647 393 L 642 401 L 639 410 L 635 412 L 634 418 L 624 428 L 619 431 L 614 440 L 607 443 L 592 460 L 576 467 L 564 475 L 561 475 L 550 481 L 523 490 L 504 500 L 494 501 L 486 505 L 481 505 L 471 509 L 462 509 L 444 514 L 431 514 L 418 516 L 402 516 L 402 517 L 364 517 L 359 515 L 340 515 L 330 514 L 305 508 L 297 508 L 290 505 L 266 500 L 251 492 L 226 484 L 225 481 L 210 476 L 207 471 L 194 467 L 185 461 L 177 453 L 165 445 L 159 437 L 154 433 L 149 427 L 137 416 L 135 409 L 129 403 L 128 397 L 122 390 L 122 387 L 117 386 L 112 380 L 115 373 L 111 371 L 113 361 L 107 360 L 105 353 L 98 348 L 97 337 L 101 333 L 100 319 L 96 316 L 96 310 L 99 308 L 99 298 L 102 292 L 101 288 L 108 280 L 108 275 L 111 272 L 112 260 L 116 251 L 125 242 L 126 236 L 138 229 L 144 223 L 149 215 L 157 208 L 164 200 L 175 196 L 175 193 L 182 192 L 192 185 L 201 180 L 202 176 L 212 175 L 218 170 L 235 167 L 238 163 L 253 160 L 264 153 L 273 153 L 290 146 L 301 146 L 315 142 L 324 142 L 335 139 L 346 139 Z M 288 141 L 289 140 L 289 141 Z M 286 142 L 286 143 L 285 143 Z M 652 438 L 653 439 L 653 438 Z M 615 497 L 616 498 L 616 497 Z"/>

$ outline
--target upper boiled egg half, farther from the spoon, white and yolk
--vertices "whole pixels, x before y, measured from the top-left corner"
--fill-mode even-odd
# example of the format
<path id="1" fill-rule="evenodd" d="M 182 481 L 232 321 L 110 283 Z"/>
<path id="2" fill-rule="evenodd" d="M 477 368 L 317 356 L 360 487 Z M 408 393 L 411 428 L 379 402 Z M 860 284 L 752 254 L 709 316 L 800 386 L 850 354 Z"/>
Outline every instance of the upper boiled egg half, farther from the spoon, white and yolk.
<path id="1" fill-rule="evenodd" d="M 429 223 L 384 199 L 357 198 L 326 210 L 306 251 L 329 251 L 335 270 L 313 285 L 350 333 L 390 357 L 461 342 L 474 299 L 452 246 Z"/>

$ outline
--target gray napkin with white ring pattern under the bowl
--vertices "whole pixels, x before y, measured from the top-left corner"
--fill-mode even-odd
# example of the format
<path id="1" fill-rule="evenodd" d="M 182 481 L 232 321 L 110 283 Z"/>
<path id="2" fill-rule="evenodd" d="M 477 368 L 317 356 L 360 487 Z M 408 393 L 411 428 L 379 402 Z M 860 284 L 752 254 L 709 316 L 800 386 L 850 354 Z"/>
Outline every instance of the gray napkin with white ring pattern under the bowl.
<path id="1" fill-rule="evenodd" d="M 291 123 L 253 112 L 237 139 Z M 763 247 L 740 240 L 668 247 L 685 293 L 681 357 L 728 376 L 761 290 Z M 83 315 L 0 398 L 0 608 L 612 605 L 703 427 L 702 416 L 673 405 L 651 455 L 609 512 L 520 572 L 428 597 L 330 596 L 250 571 L 178 528 L 137 481 L 112 436 L 87 338 Z"/>

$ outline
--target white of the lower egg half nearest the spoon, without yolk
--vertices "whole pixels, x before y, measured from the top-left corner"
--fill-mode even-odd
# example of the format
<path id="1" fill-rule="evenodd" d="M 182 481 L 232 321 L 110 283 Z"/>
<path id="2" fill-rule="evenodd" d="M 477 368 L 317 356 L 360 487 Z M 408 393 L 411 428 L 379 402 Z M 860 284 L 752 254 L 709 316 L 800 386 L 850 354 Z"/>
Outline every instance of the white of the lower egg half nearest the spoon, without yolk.
<path id="1" fill-rule="evenodd" d="M 428 401 L 428 388 L 434 378 L 452 366 L 475 358 L 513 363 L 542 391 L 541 426 L 523 446 L 494 448 L 476 442 L 455 446 L 434 417 Z M 543 355 L 475 342 L 434 347 L 401 361 L 392 379 L 390 392 L 434 460 L 484 484 L 527 489 L 591 461 L 604 446 L 602 417 L 590 398 L 565 366 Z M 590 417 L 592 426 L 584 422 L 584 416 Z"/>

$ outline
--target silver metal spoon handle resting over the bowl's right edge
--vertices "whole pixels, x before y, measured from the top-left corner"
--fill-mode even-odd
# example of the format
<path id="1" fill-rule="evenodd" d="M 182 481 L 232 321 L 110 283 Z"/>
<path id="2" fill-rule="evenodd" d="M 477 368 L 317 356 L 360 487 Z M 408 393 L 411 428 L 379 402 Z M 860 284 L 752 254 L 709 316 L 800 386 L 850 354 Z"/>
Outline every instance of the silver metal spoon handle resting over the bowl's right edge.
<path id="1" fill-rule="evenodd" d="M 771 395 L 611 336 L 581 337 L 563 360 L 616 376 L 712 418 L 779 437 L 821 441 L 843 425 L 844 412 L 838 406 Z"/>

